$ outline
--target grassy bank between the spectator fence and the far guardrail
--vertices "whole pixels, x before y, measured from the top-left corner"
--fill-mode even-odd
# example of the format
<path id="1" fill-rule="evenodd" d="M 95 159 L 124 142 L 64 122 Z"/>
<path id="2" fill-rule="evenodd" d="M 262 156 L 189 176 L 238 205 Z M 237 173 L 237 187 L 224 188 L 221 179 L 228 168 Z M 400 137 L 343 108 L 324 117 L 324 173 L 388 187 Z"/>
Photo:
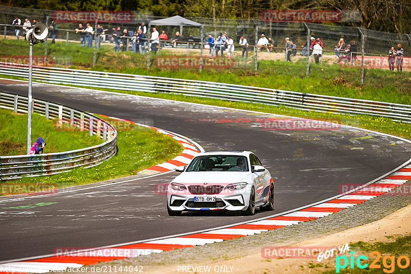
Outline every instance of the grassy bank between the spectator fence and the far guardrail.
<path id="1" fill-rule="evenodd" d="M 341 68 L 338 65 L 312 64 L 310 76 L 306 76 L 306 60 L 288 63 L 284 61 L 258 61 L 258 73 L 254 73 L 251 58 L 245 62 L 235 58 L 234 68 L 164 69 L 157 68 L 152 58 L 152 69 L 146 70 L 146 56 L 133 52 L 115 53 L 114 44 L 103 45 L 97 52 L 97 63 L 92 67 L 93 49 L 79 44 L 57 42 L 48 45 L 53 65 L 77 69 L 155 75 L 180 79 L 203 80 L 219 83 L 266 87 L 314 94 L 350 97 L 355 99 L 411 104 L 411 76 L 409 72 L 366 69 L 364 84 L 360 82 L 360 68 Z M 28 55 L 27 42 L 4 41 L 0 44 L 2 55 Z M 44 47 L 36 45 L 34 55 L 43 55 Z M 162 51 L 170 55 L 172 51 Z M 204 53 L 207 55 L 207 52 Z"/>

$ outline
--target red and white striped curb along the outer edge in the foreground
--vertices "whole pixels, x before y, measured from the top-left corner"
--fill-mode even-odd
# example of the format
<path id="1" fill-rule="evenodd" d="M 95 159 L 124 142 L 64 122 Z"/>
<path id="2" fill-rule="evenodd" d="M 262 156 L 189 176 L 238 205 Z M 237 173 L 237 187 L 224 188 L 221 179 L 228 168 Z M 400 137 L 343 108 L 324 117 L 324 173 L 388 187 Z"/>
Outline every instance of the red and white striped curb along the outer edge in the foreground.
<path id="1" fill-rule="evenodd" d="M 174 165 L 173 163 L 171 164 Z M 162 168 L 166 167 L 162 166 Z M 334 212 L 361 204 L 384 193 L 390 192 L 410 179 L 411 165 L 407 165 L 376 182 L 368 184 L 365 187 L 356 188 L 352 192 L 340 195 L 335 199 L 296 210 L 294 212 L 286 213 L 281 216 L 269 217 L 267 219 L 245 222 L 234 226 L 204 230 L 188 235 L 141 243 L 129 243 L 122 246 L 111 246 L 87 251 L 77 251 L 70 253 L 70 255 L 64 256 L 50 256 L 47 258 L 3 263 L 0 264 L 0 273 L 45 273 L 49 271 L 63 271 L 67 268 L 77 268 L 83 265 L 97 264 L 99 262 L 110 262 L 113 260 L 133 258 L 141 255 L 150 255 L 151 253 L 160 253 L 178 248 L 194 247 L 197 245 L 205 245 L 236 239 L 239 237 L 246 237 L 256 233 L 328 216 Z M 128 256 L 120 256 L 120 254 L 124 253 L 124 250 L 132 250 L 133 252 L 128 253 Z"/>

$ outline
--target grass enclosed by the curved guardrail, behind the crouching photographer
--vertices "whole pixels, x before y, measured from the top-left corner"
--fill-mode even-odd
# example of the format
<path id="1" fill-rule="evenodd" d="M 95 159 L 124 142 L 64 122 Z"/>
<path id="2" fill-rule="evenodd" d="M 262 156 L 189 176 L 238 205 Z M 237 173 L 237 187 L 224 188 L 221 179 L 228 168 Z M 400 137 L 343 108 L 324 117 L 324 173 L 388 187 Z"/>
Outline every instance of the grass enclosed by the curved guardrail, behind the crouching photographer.
<path id="1" fill-rule="evenodd" d="M 27 114 L 0 109 L 0 155 L 26 154 Z M 53 120 L 37 113 L 32 115 L 31 143 L 43 137 L 47 146 L 44 153 L 61 152 L 95 146 L 102 143 L 97 136 L 89 136 L 88 131 L 55 130 Z"/>

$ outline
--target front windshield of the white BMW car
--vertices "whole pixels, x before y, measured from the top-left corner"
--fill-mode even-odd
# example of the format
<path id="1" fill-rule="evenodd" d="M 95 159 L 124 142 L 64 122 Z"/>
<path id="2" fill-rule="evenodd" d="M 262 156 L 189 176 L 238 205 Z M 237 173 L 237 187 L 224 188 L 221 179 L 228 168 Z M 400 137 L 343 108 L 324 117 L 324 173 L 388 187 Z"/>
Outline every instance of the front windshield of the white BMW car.
<path id="1" fill-rule="evenodd" d="M 240 155 L 197 156 L 186 171 L 249 171 L 247 158 Z"/>

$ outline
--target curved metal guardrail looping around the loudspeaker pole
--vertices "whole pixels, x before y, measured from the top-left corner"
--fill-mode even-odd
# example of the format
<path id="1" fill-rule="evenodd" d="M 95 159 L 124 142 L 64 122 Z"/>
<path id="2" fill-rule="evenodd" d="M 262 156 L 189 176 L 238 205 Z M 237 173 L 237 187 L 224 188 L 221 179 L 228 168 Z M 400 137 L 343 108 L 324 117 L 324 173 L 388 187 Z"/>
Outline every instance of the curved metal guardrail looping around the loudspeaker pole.
<path id="1" fill-rule="evenodd" d="M 0 108 L 27 113 L 27 97 L 0 92 Z M 33 112 L 58 119 L 57 123 L 80 127 L 89 135 L 98 135 L 105 142 L 83 149 L 36 155 L 0 156 L 0 180 L 18 179 L 23 175 L 48 175 L 74 167 L 91 167 L 116 154 L 117 131 L 104 120 L 62 105 L 33 99 Z"/>

